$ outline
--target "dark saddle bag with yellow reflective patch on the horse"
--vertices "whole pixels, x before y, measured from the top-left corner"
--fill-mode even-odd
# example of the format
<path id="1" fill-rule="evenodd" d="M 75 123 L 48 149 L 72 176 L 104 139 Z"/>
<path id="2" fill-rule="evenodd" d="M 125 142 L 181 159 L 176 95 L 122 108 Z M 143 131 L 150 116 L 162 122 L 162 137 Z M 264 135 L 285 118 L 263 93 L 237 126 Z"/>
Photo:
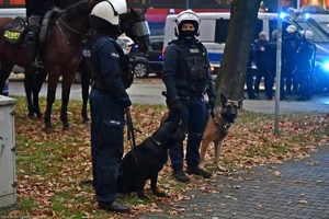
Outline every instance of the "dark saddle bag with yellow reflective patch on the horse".
<path id="1" fill-rule="evenodd" d="M 3 27 L 3 38 L 10 44 L 21 44 L 24 41 L 27 22 L 18 16 Z"/>

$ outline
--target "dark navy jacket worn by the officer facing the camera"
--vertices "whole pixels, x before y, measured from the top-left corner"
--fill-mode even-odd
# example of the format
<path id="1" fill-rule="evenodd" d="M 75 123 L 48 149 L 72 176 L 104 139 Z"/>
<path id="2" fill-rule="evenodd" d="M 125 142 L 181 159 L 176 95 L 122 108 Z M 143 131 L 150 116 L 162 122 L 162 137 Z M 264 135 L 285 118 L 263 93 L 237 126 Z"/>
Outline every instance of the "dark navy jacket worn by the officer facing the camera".
<path id="1" fill-rule="evenodd" d="M 198 74 L 198 76 L 196 76 Z M 178 39 L 164 53 L 162 80 L 168 97 L 215 96 L 207 51 L 198 41 Z"/>

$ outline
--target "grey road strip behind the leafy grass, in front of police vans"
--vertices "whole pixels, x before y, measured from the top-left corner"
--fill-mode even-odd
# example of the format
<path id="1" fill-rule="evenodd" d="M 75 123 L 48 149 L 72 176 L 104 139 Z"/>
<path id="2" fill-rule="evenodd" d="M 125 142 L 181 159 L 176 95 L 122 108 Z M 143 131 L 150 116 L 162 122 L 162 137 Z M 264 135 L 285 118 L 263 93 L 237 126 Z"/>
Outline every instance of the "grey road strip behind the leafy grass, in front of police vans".
<path id="1" fill-rule="evenodd" d="M 9 89 L 11 95 L 25 95 L 22 82 L 11 81 Z M 159 83 L 135 83 L 128 89 L 128 93 L 131 94 L 133 103 L 164 104 L 164 99 L 161 96 L 163 90 L 163 84 Z M 46 95 L 46 84 L 44 84 L 41 95 Z M 58 84 L 56 96 L 60 99 L 60 84 Z M 70 97 L 81 100 L 80 84 L 72 85 Z M 243 107 L 253 112 L 274 113 L 274 101 L 246 100 Z M 329 96 L 319 96 L 306 102 L 283 101 L 281 102 L 281 113 L 329 113 Z"/>

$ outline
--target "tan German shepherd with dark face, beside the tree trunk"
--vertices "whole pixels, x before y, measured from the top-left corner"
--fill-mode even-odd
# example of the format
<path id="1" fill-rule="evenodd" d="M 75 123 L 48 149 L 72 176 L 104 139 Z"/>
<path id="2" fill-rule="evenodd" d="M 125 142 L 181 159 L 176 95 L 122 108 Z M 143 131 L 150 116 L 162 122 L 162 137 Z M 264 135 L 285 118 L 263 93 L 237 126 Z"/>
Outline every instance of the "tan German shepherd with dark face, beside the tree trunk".
<path id="1" fill-rule="evenodd" d="M 223 140 L 227 136 L 231 124 L 237 118 L 239 110 L 242 107 L 242 101 L 230 101 L 224 95 L 220 95 L 220 102 L 222 106 L 215 107 L 214 112 L 211 113 L 203 132 L 200 150 L 201 166 L 204 165 L 204 158 L 212 141 L 215 148 L 214 164 L 218 164 Z"/>

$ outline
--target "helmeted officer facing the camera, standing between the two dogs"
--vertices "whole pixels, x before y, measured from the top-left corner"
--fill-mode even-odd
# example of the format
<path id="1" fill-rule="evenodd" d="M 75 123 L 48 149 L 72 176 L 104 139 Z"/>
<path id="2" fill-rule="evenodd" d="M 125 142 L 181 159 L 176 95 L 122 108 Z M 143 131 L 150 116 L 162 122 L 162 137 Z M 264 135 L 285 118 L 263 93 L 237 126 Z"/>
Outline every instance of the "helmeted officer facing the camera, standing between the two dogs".
<path id="1" fill-rule="evenodd" d="M 192 10 L 178 14 L 175 34 L 164 54 L 162 80 L 167 88 L 167 104 L 170 112 L 179 112 L 185 122 L 188 132 L 186 163 L 189 174 L 211 177 L 211 173 L 198 168 L 198 148 L 206 124 L 207 108 L 204 94 L 207 93 L 213 107 L 215 92 L 209 74 L 207 51 L 196 39 L 200 18 Z M 171 113 L 170 117 L 175 116 Z M 173 176 L 180 182 L 190 178 L 183 171 L 183 139 L 169 151 Z"/>

